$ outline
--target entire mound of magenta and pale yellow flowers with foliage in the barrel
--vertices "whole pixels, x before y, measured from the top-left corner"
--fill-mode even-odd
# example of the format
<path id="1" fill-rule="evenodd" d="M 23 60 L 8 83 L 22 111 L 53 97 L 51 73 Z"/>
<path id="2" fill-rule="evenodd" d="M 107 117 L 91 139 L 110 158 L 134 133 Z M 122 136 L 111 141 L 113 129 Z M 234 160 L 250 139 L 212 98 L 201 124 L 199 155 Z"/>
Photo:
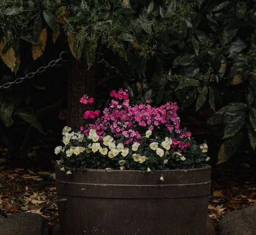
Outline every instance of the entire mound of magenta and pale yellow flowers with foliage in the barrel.
<path id="1" fill-rule="evenodd" d="M 145 104 L 131 105 L 128 90 L 122 89 L 113 90 L 110 96 L 113 100 L 101 117 L 99 110 L 84 113 L 84 119 L 96 119 L 93 124 L 81 126 L 78 132 L 63 128 L 65 146 L 55 148 L 55 154 L 61 153 L 62 171 L 199 168 L 209 160 L 207 143 L 197 145 L 186 128 L 180 129 L 176 103 L 152 107 L 151 100 L 145 100 Z M 83 96 L 80 102 L 94 101 Z"/>

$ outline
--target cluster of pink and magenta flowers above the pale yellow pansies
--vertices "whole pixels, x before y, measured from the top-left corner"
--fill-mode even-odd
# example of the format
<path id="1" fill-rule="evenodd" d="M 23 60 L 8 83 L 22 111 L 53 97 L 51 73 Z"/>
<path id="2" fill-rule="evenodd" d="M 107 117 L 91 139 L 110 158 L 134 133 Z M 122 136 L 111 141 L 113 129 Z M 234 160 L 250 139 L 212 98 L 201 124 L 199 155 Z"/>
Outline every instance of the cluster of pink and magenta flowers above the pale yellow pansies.
<path id="1" fill-rule="evenodd" d="M 178 139 L 172 139 L 172 147 L 179 147 L 179 151 L 183 151 L 190 146 L 189 142 L 183 142 L 182 139 L 190 137 L 190 132 L 182 133 L 180 130 L 180 119 L 177 116 L 177 103 L 167 102 L 160 107 L 152 107 L 146 100 L 147 104 L 131 105 L 129 103 L 128 90 L 113 90 L 110 94 L 115 98 L 111 101 L 108 108 L 105 108 L 103 115 L 99 116 L 99 110 L 86 111 L 84 118 L 95 118 L 95 123 L 86 127 L 81 126 L 80 130 L 88 135 L 90 129 L 95 129 L 99 139 L 112 133 L 114 138 L 120 136 L 125 137 L 124 144 L 129 145 L 134 142 L 142 142 L 142 136 L 146 131 L 167 129 L 169 132 L 179 134 Z M 92 98 L 90 98 L 92 99 Z M 88 97 L 84 96 L 80 99 L 81 103 L 90 103 Z M 136 131 L 136 128 L 143 128 L 143 133 Z"/>

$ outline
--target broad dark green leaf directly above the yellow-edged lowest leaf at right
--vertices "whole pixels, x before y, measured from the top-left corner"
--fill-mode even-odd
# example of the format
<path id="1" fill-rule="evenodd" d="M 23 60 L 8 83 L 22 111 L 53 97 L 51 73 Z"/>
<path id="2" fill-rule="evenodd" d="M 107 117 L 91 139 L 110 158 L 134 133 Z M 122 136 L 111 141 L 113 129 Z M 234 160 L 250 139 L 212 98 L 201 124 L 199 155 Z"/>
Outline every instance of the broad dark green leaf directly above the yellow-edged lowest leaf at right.
<path id="1" fill-rule="evenodd" d="M 239 116 L 234 116 L 225 126 L 223 139 L 230 138 L 234 136 L 237 132 L 241 130 L 245 123 L 245 114 L 242 113 Z"/>

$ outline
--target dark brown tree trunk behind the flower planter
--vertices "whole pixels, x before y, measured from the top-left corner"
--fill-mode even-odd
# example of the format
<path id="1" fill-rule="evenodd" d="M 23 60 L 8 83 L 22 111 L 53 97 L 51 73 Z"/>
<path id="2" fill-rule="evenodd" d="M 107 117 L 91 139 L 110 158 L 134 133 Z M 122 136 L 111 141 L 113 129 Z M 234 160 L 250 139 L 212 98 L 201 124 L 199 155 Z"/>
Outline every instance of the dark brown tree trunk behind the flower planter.
<path id="1" fill-rule="evenodd" d="M 72 130 L 78 130 L 81 125 L 86 124 L 83 114 L 84 111 L 94 110 L 93 104 L 81 104 L 80 98 L 84 95 L 93 97 L 96 94 L 96 63 L 88 70 L 87 62 L 84 57 L 80 60 L 71 55 L 68 75 L 68 113 L 67 125 Z"/>

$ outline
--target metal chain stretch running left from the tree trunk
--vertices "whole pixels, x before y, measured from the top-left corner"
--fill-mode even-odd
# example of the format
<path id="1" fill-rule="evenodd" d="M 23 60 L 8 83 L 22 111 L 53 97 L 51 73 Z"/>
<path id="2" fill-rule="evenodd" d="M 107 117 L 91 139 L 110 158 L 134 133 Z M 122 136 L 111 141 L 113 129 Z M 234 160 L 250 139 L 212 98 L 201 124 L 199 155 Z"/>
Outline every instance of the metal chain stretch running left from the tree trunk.
<path id="1" fill-rule="evenodd" d="M 19 83 L 23 82 L 23 80 L 26 78 L 28 78 L 28 79 L 33 78 L 37 73 L 43 73 L 47 68 L 54 67 L 60 61 L 67 62 L 67 60 L 64 60 L 62 57 L 64 53 L 69 53 L 69 52 L 66 52 L 66 51 L 61 52 L 60 57 L 57 60 L 50 61 L 47 66 L 42 66 L 42 67 L 38 68 L 38 70 L 36 70 L 35 72 L 28 73 L 25 77 L 17 78 L 17 79 L 15 79 L 15 81 L 6 82 L 2 86 L 0 86 L 0 89 L 9 88 L 14 84 L 19 84 Z"/>

